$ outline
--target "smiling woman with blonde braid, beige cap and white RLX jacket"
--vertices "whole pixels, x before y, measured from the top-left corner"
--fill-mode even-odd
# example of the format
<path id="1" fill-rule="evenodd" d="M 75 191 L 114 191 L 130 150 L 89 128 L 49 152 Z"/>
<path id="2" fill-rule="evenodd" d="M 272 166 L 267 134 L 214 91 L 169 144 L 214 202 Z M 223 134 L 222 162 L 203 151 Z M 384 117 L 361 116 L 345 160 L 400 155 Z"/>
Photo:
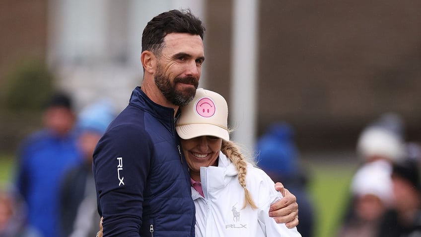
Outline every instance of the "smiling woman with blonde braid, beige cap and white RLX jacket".
<path id="1" fill-rule="evenodd" d="M 189 165 L 196 206 L 196 237 L 300 237 L 268 216 L 282 198 L 272 179 L 229 141 L 228 106 L 218 93 L 199 88 L 181 107 L 176 131 Z"/>

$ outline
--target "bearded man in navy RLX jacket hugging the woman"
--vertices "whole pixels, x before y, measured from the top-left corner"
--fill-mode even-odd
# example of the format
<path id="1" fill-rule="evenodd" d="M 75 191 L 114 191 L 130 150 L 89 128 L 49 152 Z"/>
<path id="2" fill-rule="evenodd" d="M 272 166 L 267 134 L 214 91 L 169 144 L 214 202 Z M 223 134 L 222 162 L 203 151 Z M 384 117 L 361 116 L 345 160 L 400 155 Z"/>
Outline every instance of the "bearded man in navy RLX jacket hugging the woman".
<path id="1" fill-rule="evenodd" d="M 98 211 L 106 237 L 194 236 L 195 205 L 174 121 L 194 97 L 205 60 L 201 20 L 189 11 L 155 16 L 142 34 L 141 87 L 94 152 Z M 274 210 L 298 224 L 287 192 Z M 291 212 L 292 210 L 292 212 Z M 294 219 L 295 218 L 295 219 Z"/>

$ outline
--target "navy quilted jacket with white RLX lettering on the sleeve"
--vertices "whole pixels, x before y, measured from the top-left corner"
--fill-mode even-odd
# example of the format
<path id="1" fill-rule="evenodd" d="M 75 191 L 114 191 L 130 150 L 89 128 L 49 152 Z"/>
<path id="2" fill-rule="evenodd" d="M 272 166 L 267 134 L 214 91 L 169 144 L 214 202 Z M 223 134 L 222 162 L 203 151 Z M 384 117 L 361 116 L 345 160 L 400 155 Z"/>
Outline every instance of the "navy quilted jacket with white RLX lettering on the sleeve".
<path id="1" fill-rule="evenodd" d="M 93 159 L 104 237 L 194 237 L 195 206 L 174 109 L 135 88 Z"/>

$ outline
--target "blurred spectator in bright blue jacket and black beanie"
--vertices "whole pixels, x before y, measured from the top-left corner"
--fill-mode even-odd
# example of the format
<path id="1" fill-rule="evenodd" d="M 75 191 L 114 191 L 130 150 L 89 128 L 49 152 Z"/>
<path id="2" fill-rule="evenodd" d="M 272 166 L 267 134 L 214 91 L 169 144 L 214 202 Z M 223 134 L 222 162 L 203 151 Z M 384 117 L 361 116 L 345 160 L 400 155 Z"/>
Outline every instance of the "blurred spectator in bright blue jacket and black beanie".
<path id="1" fill-rule="evenodd" d="M 18 150 L 16 186 L 27 206 L 29 225 L 43 237 L 58 237 L 61 179 L 70 167 L 81 162 L 70 97 L 53 95 L 43 121 L 45 128 L 25 139 Z"/>

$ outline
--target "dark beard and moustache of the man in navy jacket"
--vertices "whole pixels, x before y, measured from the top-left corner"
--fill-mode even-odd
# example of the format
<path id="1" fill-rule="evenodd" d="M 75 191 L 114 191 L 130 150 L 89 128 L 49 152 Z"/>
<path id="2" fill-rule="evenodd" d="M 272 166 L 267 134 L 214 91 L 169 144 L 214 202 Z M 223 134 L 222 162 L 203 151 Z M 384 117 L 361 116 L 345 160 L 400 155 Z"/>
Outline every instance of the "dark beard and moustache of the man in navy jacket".
<path id="1" fill-rule="evenodd" d="M 168 77 L 165 77 L 161 70 L 158 70 L 157 75 L 154 77 L 155 84 L 165 96 L 165 98 L 170 101 L 172 104 L 177 106 L 186 106 L 192 100 L 196 94 L 196 89 L 199 85 L 198 79 L 194 77 L 176 77 L 174 81 L 171 83 Z M 187 88 L 184 91 L 180 91 L 176 89 L 177 83 L 186 83 L 186 84 L 193 84 L 195 88 Z"/>

